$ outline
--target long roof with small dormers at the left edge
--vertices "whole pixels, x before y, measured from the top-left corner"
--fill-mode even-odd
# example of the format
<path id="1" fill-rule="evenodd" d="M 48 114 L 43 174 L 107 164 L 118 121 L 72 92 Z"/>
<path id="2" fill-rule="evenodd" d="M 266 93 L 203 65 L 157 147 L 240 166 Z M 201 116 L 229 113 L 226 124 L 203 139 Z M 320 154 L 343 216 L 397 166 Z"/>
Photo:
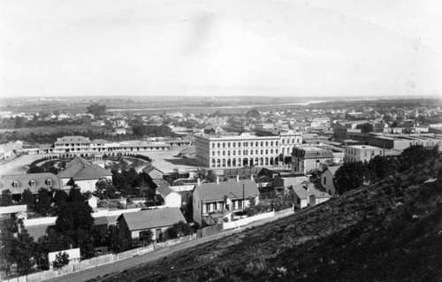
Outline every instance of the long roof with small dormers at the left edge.
<path id="1" fill-rule="evenodd" d="M 35 181 L 35 185 L 31 186 L 31 181 Z M 14 187 L 14 182 L 18 182 L 18 187 Z M 40 188 L 59 188 L 57 175 L 50 172 L 43 173 L 29 173 L 29 174 L 13 174 L 4 175 L 0 178 L 0 190 L 9 189 L 11 194 L 22 194 L 23 191 L 29 188 L 32 193 L 36 194 Z"/>

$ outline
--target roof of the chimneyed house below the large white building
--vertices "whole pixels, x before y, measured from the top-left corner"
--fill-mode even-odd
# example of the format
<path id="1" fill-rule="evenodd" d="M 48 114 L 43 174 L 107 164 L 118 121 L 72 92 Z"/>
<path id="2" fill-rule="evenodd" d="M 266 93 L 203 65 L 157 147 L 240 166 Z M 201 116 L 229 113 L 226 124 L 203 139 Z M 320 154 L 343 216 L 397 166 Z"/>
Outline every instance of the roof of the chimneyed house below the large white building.
<path id="1" fill-rule="evenodd" d="M 244 186 L 244 192 L 243 192 Z M 230 199 L 242 199 L 255 197 L 259 195 L 258 187 L 255 181 L 245 179 L 236 181 L 230 179 L 229 181 L 217 183 L 202 183 L 200 186 L 195 187 L 194 194 L 198 194 L 199 198 L 203 202 L 211 201 L 225 201 L 225 196 Z"/>

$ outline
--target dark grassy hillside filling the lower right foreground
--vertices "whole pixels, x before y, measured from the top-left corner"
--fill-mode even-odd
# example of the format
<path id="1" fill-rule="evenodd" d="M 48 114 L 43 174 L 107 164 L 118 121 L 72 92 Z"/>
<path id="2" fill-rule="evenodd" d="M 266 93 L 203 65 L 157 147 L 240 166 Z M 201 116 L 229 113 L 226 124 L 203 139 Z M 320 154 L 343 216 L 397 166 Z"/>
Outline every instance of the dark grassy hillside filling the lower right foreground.
<path id="1" fill-rule="evenodd" d="M 437 170 L 414 168 L 106 281 L 438 280 L 442 181 L 423 183 Z"/>

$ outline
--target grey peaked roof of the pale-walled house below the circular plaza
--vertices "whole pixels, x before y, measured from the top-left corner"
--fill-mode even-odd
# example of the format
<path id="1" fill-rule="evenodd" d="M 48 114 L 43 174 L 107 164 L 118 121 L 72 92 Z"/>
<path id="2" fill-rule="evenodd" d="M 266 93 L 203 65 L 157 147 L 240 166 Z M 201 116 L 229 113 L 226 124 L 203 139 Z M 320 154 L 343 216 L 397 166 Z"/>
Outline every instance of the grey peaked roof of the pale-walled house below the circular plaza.
<path id="1" fill-rule="evenodd" d="M 103 169 L 98 164 L 76 164 L 61 171 L 57 176 L 59 179 L 73 180 L 103 179 L 106 176 L 112 176 L 112 172 Z"/>

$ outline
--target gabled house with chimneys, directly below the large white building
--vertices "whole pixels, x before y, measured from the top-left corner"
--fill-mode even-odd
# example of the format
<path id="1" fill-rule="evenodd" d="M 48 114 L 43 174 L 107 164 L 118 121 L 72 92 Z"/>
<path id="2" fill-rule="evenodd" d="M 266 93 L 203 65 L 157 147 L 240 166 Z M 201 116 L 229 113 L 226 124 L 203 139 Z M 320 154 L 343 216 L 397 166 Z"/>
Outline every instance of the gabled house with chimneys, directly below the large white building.
<path id="1" fill-rule="evenodd" d="M 194 188 L 194 221 L 202 225 L 210 215 L 227 216 L 226 210 L 240 211 L 250 206 L 250 202 L 259 202 L 259 190 L 254 180 L 237 178 L 219 182 L 217 178 L 217 182 L 201 183 Z"/>

